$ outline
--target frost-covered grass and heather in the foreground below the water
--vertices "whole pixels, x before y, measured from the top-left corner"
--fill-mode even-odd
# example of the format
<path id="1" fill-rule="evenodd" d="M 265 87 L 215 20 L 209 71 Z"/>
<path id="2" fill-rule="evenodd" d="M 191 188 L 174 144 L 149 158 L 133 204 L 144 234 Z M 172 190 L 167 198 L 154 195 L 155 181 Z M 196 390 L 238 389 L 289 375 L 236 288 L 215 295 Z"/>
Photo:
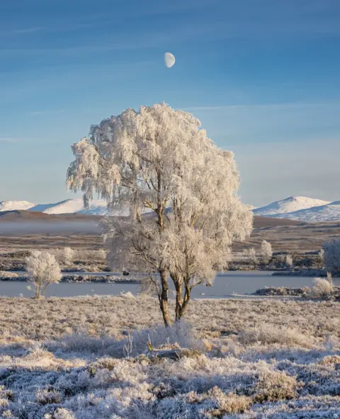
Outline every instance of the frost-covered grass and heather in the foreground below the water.
<path id="1" fill-rule="evenodd" d="M 162 326 L 149 297 L 0 299 L 0 417 L 336 418 L 339 303 L 200 300 Z M 159 348 L 194 357 L 150 358 Z"/>

